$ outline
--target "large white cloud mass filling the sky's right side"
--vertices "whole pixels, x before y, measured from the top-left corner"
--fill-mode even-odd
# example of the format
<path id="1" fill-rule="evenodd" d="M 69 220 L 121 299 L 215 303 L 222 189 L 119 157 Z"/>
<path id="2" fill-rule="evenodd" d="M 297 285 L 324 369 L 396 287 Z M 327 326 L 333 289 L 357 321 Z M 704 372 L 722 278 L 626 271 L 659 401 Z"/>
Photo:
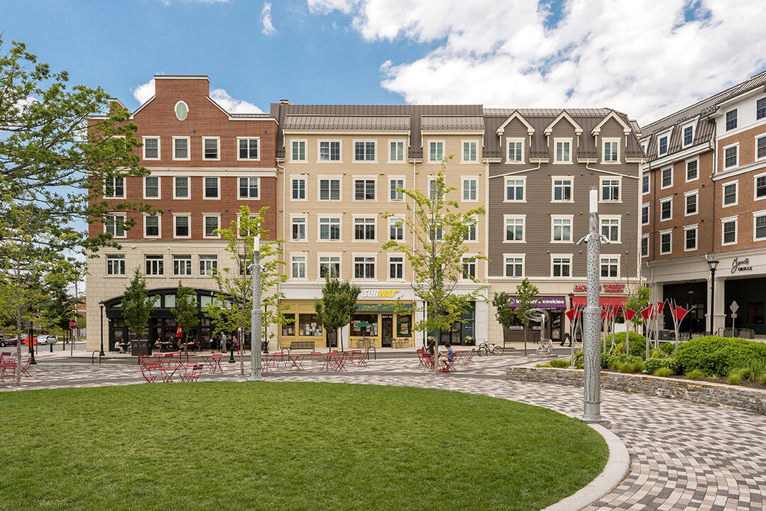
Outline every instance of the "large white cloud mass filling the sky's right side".
<path id="1" fill-rule="evenodd" d="M 766 67 L 761 0 L 568 0 L 561 13 L 532 0 L 308 4 L 348 13 L 369 42 L 437 44 L 381 66 L 408 103 L 608 106 L 649 123 Z"/>

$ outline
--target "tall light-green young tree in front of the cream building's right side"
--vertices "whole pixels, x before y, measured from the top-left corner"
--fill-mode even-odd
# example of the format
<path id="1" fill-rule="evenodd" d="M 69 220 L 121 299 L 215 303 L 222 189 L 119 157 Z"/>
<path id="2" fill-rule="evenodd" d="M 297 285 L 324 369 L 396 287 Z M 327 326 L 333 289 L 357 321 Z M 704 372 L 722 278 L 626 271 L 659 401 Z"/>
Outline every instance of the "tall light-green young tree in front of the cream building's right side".
<path id="1" fill-rule="evenodd" d="M 476 217 L 485 215 L 486 211 L 483 207 L 460 211 L 457 201 L 447 198 L 450 192 L 457 190 L 446 184 L 447 159 L 451 158 L 447 156 L 442 160 L 441 170 L 430 185 L 428 195 L 419 190 L 398 190 L 411 200 L 411 203 L 407 202 L 404 218 L 388 212 L 385 215 L 385 218 L 398 218 L 397 226 L 406 228 L 414 240 L 414 243 L 391 240 L 382 247 L 383 250 L 404 254 L 414 273 L 412 287 L 415 296 L 425 304 L 420 309 L 424 310 L 425 318 L 414 323 L 414 330 L 430 332 L 451 329 L 453 323 L 463 323 L 462 314 L 470 302 L 484 300 L 481 291 L 486 286 L 457 292 L 461 280 L 480 283 L 464 271 L 464 264 L 487 259 L 483 256 L 466 257 L 465 238 Z M 417 307 L 415 310 L 418 310 Z"/>

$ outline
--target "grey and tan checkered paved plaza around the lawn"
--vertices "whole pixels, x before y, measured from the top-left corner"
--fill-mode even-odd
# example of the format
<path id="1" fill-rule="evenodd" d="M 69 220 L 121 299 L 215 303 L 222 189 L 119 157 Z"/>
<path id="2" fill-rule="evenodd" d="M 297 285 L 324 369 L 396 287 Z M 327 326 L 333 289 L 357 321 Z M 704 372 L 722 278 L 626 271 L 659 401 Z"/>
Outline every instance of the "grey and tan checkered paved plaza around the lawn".
<path id="1" fill-rule="evenodd" d="M 475 358 L 476 365 L 457 372 L 424 374 L 414 357 L 381 358 L 348 372 L 277 372 L 275 382 L 343 382 L 404 385 L 483 394 L 582 413 L 582 389 L 527 382 L 508 382 L 509 365 L 526 365 L 519 356 Z M 241 381 L 240 364 L 224 362 L 223 374 L 204 372 L 204 381 Z M 245 375 L 249 375 L 249 363 Z M 92 387 L 143 383 L 136 359 L 40 357 L 21 389 Z M 172 385 L 172 384 L 155 384 Z M 184 384 L 176 384 L 184 385 Z M 17 388 L 0 385 L 0 391 Z M 9 396 L 5 396 L 8 398 Z M 611 431 L 630 453 L 630 475 L 617 488 L 585 509 L 762 510 L 766 493 L 766 417 L 745 411 L 693 405 L 619 391 L 601 391 L 601 410 Z M 534 481 L 528 481 L 534 484 Z"/>

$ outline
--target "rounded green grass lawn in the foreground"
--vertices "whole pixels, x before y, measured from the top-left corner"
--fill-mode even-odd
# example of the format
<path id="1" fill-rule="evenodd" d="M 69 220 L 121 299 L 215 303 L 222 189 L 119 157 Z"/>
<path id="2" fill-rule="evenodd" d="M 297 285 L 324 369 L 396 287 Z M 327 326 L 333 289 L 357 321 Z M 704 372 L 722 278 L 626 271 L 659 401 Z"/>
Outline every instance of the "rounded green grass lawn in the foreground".
<path id="1" fill-rule="evenodd" d="M 553 411 L 369 385 L 3 392 L 0 431 L 2 511 L 528 511 L 607 460 L 601 436 Z"/>

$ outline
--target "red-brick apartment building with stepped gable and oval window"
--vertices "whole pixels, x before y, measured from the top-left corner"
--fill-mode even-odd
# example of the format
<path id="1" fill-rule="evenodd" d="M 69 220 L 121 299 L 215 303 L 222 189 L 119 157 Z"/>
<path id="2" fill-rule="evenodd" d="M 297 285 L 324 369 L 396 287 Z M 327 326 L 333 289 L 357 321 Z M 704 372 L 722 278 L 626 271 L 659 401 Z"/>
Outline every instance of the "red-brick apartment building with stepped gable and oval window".
<path id="1" fill-rule="evenodd" d="M 106 182 L 104 198 L 115 205 L 144 201 L 162 215 L 115 211 L 106 224 L 90 225 L 91 235 L 110 232 L 122 249 L 103 249 L 88 261 L 88 349 L 100 346 L 102 320 L 105 349 L 128 339 L 120 305 L 134 268 L 146 274 L 157 307 L 142 338 L 168 338 L 175 334 L 170 310 L 178 281 L 197 290 L 202 307 L 217 291 L 211 270 L 238 264 L 216 229 L 230 227 L 247 205 L 268 206 L 265 227 L 277 230 L 276 120 L 228 113 L 211 99 L 206 76 L 154 78 L 154 97 L 130 116 L 143 143 L 141 164 L 151 174 Z M 136 224 L 126 230 L 121 220 L 128 218 Z M 189 333 L 209 339 L 209 320 L 200 317 L 201 327 Z"/>

